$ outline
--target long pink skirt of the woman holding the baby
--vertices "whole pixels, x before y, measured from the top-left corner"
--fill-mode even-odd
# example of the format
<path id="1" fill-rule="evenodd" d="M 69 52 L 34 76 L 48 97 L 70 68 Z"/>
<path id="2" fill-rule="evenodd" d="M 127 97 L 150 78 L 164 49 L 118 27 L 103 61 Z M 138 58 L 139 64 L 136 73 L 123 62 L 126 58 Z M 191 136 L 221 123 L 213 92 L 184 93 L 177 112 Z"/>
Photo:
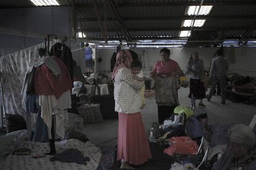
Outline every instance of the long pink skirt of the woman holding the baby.
<path id="1" fill-rule="evenodd" d="M 118 113 L 117 161 L 143 164 L 151 158 L 148 137 L 140 113 Z"/>

